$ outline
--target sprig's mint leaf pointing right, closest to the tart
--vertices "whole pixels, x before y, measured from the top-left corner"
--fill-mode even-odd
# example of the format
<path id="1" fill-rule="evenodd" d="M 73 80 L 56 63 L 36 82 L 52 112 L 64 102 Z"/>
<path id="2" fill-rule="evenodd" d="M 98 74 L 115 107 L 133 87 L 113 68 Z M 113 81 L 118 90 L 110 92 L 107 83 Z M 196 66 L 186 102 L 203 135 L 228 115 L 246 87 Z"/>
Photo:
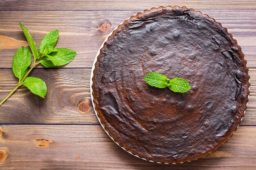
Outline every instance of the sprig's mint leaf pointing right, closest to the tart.
<path id="1" fill-rule="evenodd" d="M 63 66 L 71 62 L 74 57 L 76 57 L 76 52 L 71 49 L 56 48 L 56 50 L 56 52 L 52 52 L 47 55 L 54 66 Z"/>

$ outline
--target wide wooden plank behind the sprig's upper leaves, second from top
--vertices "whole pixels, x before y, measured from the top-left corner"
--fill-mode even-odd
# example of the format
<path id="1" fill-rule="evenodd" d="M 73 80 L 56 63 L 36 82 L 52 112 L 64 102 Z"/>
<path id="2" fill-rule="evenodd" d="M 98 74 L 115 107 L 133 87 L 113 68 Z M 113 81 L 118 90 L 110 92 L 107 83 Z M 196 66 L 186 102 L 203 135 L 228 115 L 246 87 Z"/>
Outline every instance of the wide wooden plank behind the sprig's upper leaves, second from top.
<path id="1" fill-rule="evenodd" d="M 229 32 L 242 46 L 248 66 L 256 68 L 256 11 L 207 9 L 201 11 L 229 28 Z M 137 12 L 0 11 L 0 68 L 11 68 L 15 51 L 19 46 L 27 46 L 19 21 L 29 29 L 38 46 L 47 32 L 58 29 L 60 38 L 56 47 L 70 48 L 77 52 L 74 61 L 64 67 L 91 68 L 101 43 L 110 31 Z"/>

